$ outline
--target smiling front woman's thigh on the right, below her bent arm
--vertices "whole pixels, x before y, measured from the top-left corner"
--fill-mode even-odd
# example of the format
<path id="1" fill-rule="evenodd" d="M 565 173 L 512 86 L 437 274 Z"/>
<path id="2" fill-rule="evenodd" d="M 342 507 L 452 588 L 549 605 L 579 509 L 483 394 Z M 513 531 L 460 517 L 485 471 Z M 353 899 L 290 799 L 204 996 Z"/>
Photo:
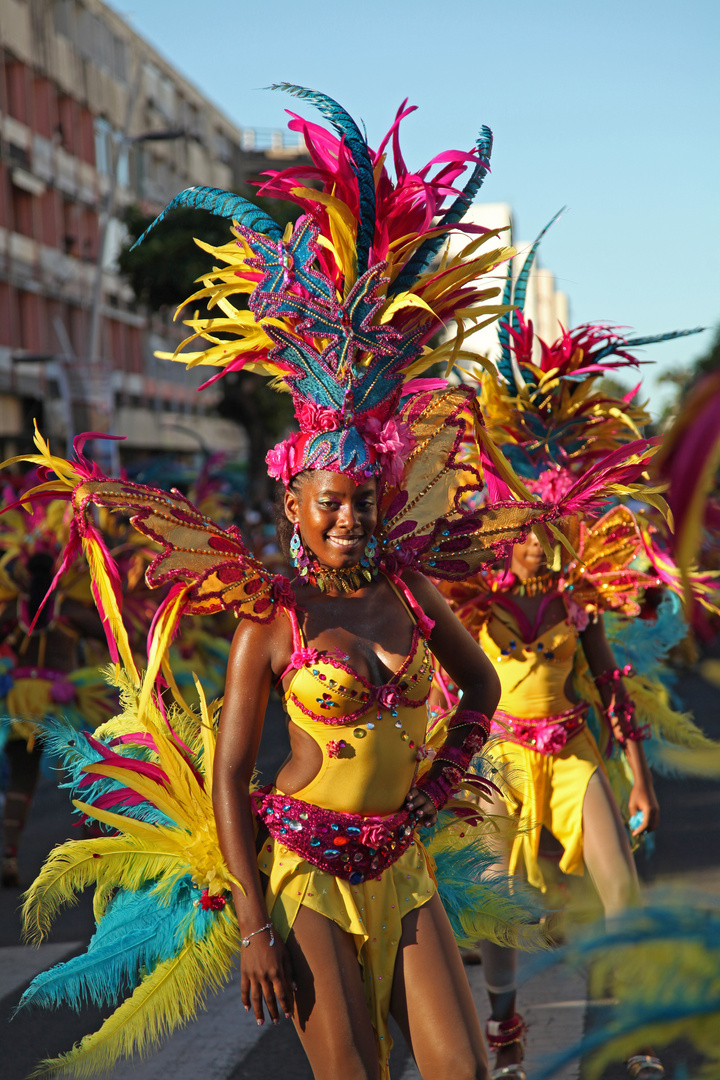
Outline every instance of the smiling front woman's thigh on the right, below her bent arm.
<path id="1" fill-rule="evenodd" d="M 391 1012 L 424 1080 L 487 1078 L 475 1003 L 437 893 L 403 919 Z"/>

